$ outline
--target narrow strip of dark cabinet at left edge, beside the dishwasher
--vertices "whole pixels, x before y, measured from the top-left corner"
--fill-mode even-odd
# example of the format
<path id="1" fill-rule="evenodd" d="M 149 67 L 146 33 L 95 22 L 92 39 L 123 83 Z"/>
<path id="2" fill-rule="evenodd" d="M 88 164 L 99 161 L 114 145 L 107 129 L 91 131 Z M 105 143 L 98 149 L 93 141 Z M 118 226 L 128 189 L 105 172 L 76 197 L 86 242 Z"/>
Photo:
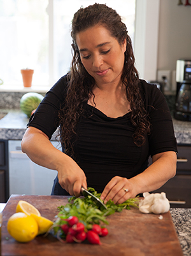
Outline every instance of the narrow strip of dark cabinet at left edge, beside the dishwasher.
<path id="1" fill-rule="evenodd" d="M 0 203 L 6 203 L 8 187 L 8 141 L 0 140 Z"/>

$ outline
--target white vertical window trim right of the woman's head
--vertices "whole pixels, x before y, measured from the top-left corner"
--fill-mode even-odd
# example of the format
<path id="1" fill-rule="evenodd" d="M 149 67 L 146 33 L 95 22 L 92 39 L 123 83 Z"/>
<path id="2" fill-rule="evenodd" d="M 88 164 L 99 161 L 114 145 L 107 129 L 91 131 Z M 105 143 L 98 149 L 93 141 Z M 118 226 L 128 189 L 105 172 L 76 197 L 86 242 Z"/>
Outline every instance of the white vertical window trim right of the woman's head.
<path id="1" fill-rule="evenodd" d="M 136 0 L 134 55 L 140 78 L 155 80 L 160 0 Z"/>

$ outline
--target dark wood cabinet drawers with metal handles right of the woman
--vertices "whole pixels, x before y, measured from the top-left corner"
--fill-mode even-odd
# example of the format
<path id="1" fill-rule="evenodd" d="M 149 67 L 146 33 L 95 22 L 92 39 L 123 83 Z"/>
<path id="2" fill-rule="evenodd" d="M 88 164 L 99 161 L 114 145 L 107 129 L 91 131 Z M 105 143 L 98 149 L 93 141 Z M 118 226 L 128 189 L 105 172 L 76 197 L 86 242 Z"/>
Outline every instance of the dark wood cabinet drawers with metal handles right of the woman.
<path id="1" fill-rule="evenodd" d="M 153 192 L 166 192 L 171 208 L 191 208 L 191 145 L 178 145 L 176 176 Z"/>

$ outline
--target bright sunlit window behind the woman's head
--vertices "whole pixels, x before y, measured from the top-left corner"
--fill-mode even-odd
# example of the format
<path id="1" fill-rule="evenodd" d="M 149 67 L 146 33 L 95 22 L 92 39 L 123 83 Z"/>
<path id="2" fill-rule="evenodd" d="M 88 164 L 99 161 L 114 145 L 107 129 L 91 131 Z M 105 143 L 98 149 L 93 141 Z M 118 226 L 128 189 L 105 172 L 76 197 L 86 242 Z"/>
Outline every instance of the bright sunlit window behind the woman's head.
<path id="1" fill-rule="evenodd" d="M 4 85 L 21 85 L 20 69 L 34 69 L 32 85 L 52 87 L 69 71 L 70 25 L 81 6 L 106 1 L 1 0 L 0 77 Z M 134 41 L 136 0 L 108 0 L 122 16 Z"/>

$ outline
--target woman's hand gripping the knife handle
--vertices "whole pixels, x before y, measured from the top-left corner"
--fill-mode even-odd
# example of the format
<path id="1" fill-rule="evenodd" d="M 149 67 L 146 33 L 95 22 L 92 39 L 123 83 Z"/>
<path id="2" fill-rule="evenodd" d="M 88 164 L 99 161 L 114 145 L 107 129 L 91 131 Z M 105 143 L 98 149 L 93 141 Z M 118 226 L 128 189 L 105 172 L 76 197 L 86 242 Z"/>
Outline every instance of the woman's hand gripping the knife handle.
<path id="1" fill-rule="evenodd" d="M 59 184 L 71 196 L 80 196 L 81 187 L 87 188 L 87 180 L 83 170 L 73 159 L 65 155 L 64 164 L 57 168 Z"/>

